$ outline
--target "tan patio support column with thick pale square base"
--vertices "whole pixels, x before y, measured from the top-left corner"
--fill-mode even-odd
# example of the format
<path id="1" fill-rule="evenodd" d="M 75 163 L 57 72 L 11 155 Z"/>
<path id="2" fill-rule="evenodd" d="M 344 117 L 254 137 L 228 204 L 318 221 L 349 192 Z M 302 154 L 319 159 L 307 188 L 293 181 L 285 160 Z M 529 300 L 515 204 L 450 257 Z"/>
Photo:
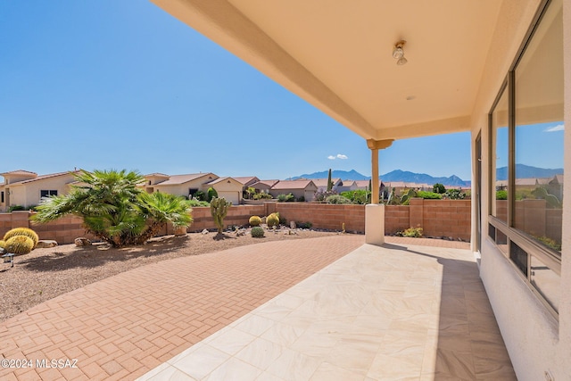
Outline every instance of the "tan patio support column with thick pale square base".
<path id="1" fill-rule="evenodd" d="M 365 243 L 385 244 L 385 205 L 379 203 L 378 196 L 378 150 L 393 144 L 393 139 L 368 139 L 371 150 L 371 203 L 365 206 Z"/>

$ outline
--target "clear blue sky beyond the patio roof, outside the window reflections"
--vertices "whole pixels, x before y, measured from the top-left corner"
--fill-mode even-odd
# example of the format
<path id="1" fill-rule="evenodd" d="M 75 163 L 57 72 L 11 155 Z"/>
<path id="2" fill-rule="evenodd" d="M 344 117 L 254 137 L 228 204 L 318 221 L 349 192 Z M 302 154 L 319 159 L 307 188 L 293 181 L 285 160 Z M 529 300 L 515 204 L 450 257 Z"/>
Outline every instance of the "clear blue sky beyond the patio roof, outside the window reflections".
<path id="1" fill-rule="evenodd" d="M 140 0 L 0 0 L 0 128 L 0 172 L 370 175 L 363 138 Z M 469 179 L 469 142 L 396 141 L 380 173 Z"/>

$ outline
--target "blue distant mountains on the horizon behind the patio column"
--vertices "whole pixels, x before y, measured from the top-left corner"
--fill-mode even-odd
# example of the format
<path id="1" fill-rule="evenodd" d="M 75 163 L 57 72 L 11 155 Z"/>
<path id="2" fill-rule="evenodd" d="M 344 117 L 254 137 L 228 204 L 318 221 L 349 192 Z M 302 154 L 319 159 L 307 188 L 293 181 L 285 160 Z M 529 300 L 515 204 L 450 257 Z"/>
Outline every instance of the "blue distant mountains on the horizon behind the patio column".
<path id="1" fill-rule="evenodd" d="M 306 173 L 296 178 L 327 178 L 328 171 L 324 170 L 322 172 Z M 368 180 L 370 176 L 365 176 L 356 170 L 332 170 L 332 178 L 341 178 L 343 180 Z M 393 181 L 403 181 L 405 183 L 420 183 L 434 185 L 436 183 L 443 184 L 444 186 L 469 186 L 470 181 L 464 181 L 458 176 L 452 175 L 449 178 L 434 178 L 425 173 L 413 173 L 404 170 L 393 170 L 391 172 L 381 175 L 383 182 L 393 182 Z"/>

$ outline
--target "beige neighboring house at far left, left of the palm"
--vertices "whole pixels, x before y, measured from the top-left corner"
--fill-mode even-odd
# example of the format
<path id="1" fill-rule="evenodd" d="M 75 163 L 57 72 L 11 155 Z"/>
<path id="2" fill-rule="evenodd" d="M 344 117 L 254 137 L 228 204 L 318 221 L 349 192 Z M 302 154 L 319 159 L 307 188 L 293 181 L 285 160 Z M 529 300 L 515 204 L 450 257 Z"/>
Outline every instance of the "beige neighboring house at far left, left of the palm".
<path id="1" fill-rule="evenodd" d="M 12 170 L 0 173 L 4 184 L 0 185 L 0 211 L 8 211 L 11 206 L 29 208 L 37 205 L 42 197 L 64 195 L 75 182 L 73 175 L 78 171 L 52 173 L 38 176 L 28 170 Z"/>

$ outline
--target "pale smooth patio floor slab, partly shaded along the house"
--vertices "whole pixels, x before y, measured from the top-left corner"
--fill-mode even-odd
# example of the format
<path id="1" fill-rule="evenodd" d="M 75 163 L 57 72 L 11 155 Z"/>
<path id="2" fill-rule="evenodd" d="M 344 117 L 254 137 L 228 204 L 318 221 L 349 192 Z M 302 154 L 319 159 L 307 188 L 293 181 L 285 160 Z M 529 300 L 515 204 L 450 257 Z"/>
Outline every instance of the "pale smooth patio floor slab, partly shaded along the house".
<path id="1" fill-rule="evenodd" d="M 473 254 L 403 242 L 362 245 L 138 379 L 515 380 Z"/>

